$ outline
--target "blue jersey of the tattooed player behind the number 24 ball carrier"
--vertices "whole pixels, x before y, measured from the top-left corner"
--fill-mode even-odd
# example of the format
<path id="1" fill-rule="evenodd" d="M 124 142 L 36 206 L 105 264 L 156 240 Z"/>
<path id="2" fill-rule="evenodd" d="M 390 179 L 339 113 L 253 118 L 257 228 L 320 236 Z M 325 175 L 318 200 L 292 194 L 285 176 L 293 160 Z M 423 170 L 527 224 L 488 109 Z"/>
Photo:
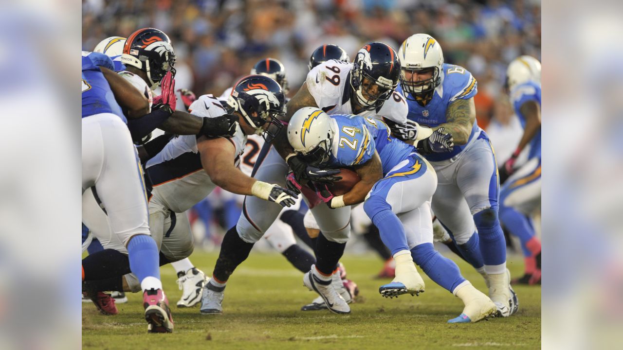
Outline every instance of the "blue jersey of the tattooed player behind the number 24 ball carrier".
<path id="1" fill-rule="evenodd" d="M 435 88 L 432 100 L 430 100 L 426 106 L 422 107 L 416 101 L 411 100 L 413 97 L 407 97 L 407 106 L 409 106 L 407 118 L 409 120 L 416 121 L 416 123 L 420 125 L 434 128 L 446 122 L 445 111 L 450 103 L 459 99 L 467 100 L 468 98 L 474 97 L 478 92 L 478 83 L 476 79 L 472 77 L 472 73 L 468 72 L 467 69 L 452 64 L 444 64 L 443 68 L 442 82 Z M 396 91 L 402 93 L 402 86 L 400 84 L 398 84 Z M 480 130 L 482 129 L 480 129 L 478 123 L 474 123 L 469 140 L 472 140 L 473 136 Z M 450 159 L 459 154 L 464 148 L 465 145 L 455 144 L 454 151 L 427 154 L 426 159 L 429 161 Z"/>

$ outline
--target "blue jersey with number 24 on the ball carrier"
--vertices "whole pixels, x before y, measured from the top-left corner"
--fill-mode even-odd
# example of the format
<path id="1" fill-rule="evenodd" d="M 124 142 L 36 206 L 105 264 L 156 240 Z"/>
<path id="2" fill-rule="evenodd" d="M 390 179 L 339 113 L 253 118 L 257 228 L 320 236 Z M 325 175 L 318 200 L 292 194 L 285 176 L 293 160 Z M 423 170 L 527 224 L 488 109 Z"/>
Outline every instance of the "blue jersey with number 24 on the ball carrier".
<path id="1" fill-rule="evenodd" d="M 406 144 L 389 136 L 389 127 L 383 121 L 358 115 L 331 115 L 336 126 L 331 158 L 331 168 L 356 166 L 372 158 L 374 150 L 379 153 L 383 176 L 415 151 Z"/>

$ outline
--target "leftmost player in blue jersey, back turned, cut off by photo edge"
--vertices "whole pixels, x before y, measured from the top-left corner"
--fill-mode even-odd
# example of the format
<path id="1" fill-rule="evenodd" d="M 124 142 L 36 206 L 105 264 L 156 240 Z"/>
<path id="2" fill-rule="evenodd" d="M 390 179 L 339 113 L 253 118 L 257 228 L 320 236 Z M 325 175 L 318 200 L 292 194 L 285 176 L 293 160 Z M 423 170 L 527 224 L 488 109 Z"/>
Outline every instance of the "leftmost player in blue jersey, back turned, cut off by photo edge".
<path id="1" fill-rule="evenodd" d="M 150 235 L 143 174 L 125 125 L 126 117 L 145 115 L 149 104 L 112 69 L 107 55 L 83 52 L 82 192 L 97 189 L 115 239 L 128 252 L 131 270 L 143 290 L 148 331 L 170 333 L 173 318 L 160 281 L 158 247 Z M 85 270 L 82 273 L 84 280 Z"/>

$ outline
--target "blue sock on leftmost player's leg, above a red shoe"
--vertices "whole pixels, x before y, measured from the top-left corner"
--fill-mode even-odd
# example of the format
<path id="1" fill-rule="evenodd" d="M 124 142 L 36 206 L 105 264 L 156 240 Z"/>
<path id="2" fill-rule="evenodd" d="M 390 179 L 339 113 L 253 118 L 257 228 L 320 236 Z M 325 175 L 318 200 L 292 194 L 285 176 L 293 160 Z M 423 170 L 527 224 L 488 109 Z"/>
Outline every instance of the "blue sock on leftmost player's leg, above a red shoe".
<path id="1" fill-rule="evenodd" d="M 160 279 L 159 253 L 156 241 L 148 235 L 135 235 L 128 242 L 130 270 L 139 281 L 145 277 Z"/>

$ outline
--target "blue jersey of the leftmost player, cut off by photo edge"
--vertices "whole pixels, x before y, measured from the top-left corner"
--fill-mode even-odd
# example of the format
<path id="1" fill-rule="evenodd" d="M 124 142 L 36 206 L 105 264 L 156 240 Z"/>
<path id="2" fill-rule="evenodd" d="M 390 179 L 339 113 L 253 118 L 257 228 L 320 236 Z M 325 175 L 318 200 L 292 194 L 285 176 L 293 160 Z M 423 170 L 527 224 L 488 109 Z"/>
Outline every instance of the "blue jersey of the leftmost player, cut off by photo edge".
<path id="1" fill-rule="evenodd" d="M 82 118 L 99 113 L 113 113 L 127 123 L 100 66 L 115 69 L 107 55 L 97 52 L 82 53 Z"/>

